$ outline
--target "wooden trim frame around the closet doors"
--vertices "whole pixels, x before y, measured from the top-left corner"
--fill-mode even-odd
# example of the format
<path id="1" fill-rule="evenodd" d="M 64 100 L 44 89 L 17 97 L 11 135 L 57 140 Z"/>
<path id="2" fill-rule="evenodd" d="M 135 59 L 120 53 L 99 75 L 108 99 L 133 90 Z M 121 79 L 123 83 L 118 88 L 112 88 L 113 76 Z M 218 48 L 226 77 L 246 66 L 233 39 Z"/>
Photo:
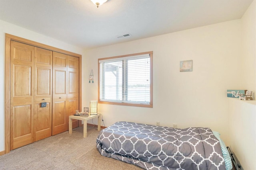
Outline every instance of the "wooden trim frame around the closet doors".
<path id="1" fill-rule="evenodd" d="M 72 53 L 66 50 L 58 49 L 56 47 L 51 47 L 42 43 L 17 37 L 15 35 L 5 34 L 5 154 L 10 152 L 10 51 L 11 51 L 11 41 L 17 41 L 20 43 L 32 45 L 34 47 L 39 47 L 47 49 L 50 51 L 55 51 L 58 53 L 63 53 L 66 55 L 71 55 L 73 57 L 79 58 L 79 110 L 82 110 L 82 55 Z M 3 152 L 3 151 L 2 151 Z M 2 153 L 0 152 L 0 153 Z"/>

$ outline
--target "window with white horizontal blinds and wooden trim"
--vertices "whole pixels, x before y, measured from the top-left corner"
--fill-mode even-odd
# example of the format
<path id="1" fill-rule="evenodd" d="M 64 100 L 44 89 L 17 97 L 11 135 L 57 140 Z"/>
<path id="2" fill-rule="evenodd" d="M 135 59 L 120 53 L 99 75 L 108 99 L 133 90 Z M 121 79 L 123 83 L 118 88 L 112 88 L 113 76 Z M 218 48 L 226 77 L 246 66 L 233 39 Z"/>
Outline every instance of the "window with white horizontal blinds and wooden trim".
<path id="1" fill-rule="evenodd" d="M 152 56 L 150 51 L 98 59 L 99 103 L 153 107 Z"/>

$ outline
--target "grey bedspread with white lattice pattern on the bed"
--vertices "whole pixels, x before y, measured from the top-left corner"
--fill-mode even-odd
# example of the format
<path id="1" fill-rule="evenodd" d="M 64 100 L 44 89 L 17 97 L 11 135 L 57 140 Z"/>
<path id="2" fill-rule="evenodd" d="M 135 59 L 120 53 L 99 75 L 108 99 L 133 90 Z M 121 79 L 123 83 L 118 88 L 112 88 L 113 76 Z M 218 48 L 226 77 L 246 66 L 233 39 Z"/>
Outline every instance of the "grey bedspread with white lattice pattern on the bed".
<path id="1" fill-rule="evenodd" d="M 209 128 L 174 129 L 116 122 L 100 131 L 103 156 L 152 170 L 225 170 L 220 143 Z"/>

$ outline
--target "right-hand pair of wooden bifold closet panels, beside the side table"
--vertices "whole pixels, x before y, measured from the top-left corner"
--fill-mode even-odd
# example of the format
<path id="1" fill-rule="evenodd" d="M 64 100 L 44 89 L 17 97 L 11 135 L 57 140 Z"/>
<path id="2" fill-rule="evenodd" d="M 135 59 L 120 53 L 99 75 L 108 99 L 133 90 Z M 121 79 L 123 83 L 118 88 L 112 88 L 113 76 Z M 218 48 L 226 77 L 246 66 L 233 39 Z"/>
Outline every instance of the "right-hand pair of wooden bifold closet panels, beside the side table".
<path id="1" fill-rule="evenodd" d="M 68 131 L 68 116 L 79 107 L 79 59 L 53 52 L 52 135 Z M 78 120 L 72 121 L 78 127 Z"/>

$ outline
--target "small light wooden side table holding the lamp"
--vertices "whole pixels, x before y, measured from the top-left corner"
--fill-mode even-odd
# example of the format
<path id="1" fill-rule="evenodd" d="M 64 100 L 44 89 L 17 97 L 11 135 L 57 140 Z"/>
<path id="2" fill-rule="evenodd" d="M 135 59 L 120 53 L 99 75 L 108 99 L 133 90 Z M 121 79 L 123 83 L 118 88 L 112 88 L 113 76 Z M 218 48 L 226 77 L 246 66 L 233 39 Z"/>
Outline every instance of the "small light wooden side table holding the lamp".
<path id="1" fill-rule="evenodd" d="M 100 131 L 100 114 L 89 115 L 88 117 L 81 117 L 81 116 L 74 116 L 74 115 L 69 116 L 68 133 L 72 134 L 72 119 L 82 120 L 84 121 L 84 138 L 86 138 L 87 137 L 87 120 L 90 120 L 96 117 L 98 117 L 98 131 Z"/>

